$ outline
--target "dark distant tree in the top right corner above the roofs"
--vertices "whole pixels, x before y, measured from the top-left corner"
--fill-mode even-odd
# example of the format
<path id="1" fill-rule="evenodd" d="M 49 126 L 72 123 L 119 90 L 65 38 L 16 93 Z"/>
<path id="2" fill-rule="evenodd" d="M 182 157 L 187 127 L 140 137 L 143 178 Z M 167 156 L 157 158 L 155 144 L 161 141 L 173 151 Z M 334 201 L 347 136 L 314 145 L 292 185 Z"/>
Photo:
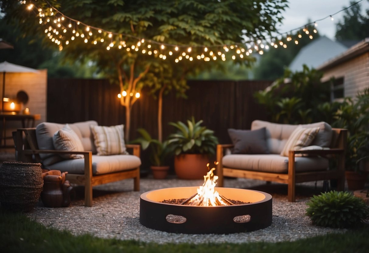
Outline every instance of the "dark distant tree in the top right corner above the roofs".
<path id="1" fill-rule="evenodd" d="M 350 5 L 354 3 L 351 1 Z M 362 15 L 360 4 L 355 4 L 345 10 L 343 20 L 337 23 L 335 37 L 338 41 L 362 40 L 369 37 L 368 27 L 369 9 L 366 10 L 366 15 Z"/>

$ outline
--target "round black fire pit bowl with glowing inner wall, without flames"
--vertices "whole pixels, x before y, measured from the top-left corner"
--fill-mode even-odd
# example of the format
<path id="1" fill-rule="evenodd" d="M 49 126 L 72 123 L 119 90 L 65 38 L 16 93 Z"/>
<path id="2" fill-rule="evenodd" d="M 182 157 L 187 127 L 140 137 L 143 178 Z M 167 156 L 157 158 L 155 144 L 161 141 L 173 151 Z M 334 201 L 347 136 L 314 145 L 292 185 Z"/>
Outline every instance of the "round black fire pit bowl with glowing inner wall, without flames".
<path id="1" fill-rule="evenodd" d="M 215 187 L 230 200 L 251 202 L 241 205 L 204 207 L 161 202 L 189 198 L 197 188 L 164 188 L 141 194 L 140 223 L 160 231 L 186 234 L 250 232 L 272 224 L 272 196 L 262 191 Z M 179 218 L 171 219 L 173 215 Z"/>

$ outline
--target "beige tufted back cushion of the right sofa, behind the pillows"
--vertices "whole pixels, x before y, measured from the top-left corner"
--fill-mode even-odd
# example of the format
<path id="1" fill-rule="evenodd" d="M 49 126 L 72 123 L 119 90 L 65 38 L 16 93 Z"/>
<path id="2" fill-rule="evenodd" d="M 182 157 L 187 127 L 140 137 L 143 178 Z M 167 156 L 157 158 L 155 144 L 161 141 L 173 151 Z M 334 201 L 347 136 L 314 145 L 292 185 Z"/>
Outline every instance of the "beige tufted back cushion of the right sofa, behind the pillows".
<path id="1" fill-rule="evenodd" d="M 313 128 L 319 127 L 319 132 L 315 136 L 311 145 L 329 147 L 332 139 L 332 127 L 324 122 L 316 122 L 312 124 L 301 125 L 289 125 L 289 124 L 277 124 L 268 121 L 254 120 L 251 123 L 251 130 L 266 128 L 266 142 L 270 153 L 280 154 L 286 144 L 289 136 L 297 127 Z"/>

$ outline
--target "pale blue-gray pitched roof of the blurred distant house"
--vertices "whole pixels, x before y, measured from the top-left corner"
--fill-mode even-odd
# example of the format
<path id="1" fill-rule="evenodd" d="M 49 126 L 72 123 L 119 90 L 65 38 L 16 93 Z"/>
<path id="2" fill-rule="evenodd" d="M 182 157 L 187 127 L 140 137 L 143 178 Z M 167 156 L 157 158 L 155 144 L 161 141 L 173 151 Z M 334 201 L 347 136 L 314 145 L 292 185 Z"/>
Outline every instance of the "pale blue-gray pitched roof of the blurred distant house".
<path id="1" fill-rule="evenodd" d="M 291 62 L 289 69 L 293 72 L 303 70 L 303 65 L 316 69 L 328 59 L 345 52 L 347 47 L 339 42 L 321 36 L 304 46 Z"/>

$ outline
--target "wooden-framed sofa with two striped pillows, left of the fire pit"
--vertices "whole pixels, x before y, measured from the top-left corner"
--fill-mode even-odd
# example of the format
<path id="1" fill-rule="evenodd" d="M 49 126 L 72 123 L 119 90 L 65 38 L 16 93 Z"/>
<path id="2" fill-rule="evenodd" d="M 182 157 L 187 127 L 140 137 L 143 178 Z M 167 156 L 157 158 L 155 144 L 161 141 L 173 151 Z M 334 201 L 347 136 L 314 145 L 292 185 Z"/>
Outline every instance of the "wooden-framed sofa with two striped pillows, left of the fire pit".
<path id="1" fill-rule="evenodd" d="M 113 138 L 109 139 L 105 131 L 111 130 Z M 43 122 L 36 128 L 17 129 L 15 147 L 18 160 L 34 160 L 44 169 L 67 171 L 70 183 L 85 185 L 85 205 L 90 207 L 92 187 L 99 184 L 132 178 L 134 190 L 139 191 L 140 146 L 124 145 L 123 136 L 123 125 L 108 128 L 99 127 L 96 121 L 67 125 Z M 132 150 L 132 155 L 125 148 Z M 109 152 L 118 154 L 104 155 Z"/>

